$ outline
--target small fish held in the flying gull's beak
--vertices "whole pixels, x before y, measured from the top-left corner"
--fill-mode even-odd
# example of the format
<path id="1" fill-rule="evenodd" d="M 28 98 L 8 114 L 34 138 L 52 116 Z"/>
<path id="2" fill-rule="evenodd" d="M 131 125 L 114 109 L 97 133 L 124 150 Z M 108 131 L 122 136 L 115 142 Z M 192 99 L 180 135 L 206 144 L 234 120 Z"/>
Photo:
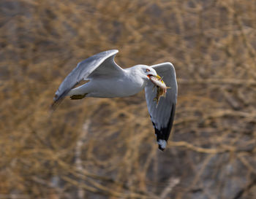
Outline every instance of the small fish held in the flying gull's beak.
<path id="1" fill-rule="evenodd" d="M 167 87 L 165 85 L 165 82 L 162 81 L 162 77 L 159 77 L 159 75 L 150 76 L 149 79 L 151 80 L 151 82 L 153 82 L 154 87 L 157 86 L 157 96 L 154 98 L 154 101 L 157 101 L 157 105 L 158 105 L 159 99 L 161 97 L 165 97 L 165 93 L 167 92 L 167 88 L 170 88 L 170 87 Z"/>

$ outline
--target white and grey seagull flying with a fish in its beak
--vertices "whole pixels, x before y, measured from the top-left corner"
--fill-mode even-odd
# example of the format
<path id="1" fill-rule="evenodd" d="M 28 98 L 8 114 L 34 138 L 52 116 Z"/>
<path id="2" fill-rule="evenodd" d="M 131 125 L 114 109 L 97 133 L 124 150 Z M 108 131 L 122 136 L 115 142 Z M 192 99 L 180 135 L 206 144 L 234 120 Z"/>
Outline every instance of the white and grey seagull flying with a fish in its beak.
<path id="1" fill-rule="evenodd" d="M 118 50 L 99 52 L 78 63 L 61 82 L 53 98 L 52 108 L 55 109 L 66 95 L 72 100 L 85 97 L 116 98 L 135 95 L 145 89 L 146 104 L 157 136 L 158 148 L 164 151 L 173 126 L 178 95 L 173 64 L 165 62 L 122 69 L 114 61 L 117 52 Z M 157 85 L 151 81 L 151 77 L 162 77 L 160 80 L 168 87 L 165 97 L 159 101 L 154 100 L 158 90 L 154 88 Z M 89 82 L 75 87 L 82 80 Z"/>

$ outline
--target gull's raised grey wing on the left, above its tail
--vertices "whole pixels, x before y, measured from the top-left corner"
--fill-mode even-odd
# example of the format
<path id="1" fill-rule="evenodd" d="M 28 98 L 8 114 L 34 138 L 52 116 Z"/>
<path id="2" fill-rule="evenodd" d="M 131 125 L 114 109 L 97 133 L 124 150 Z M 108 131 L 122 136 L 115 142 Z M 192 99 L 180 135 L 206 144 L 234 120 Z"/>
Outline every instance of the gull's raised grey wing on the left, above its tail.
<path id="1" fill-rule="evenodd" d="M 93 76 L 118 73 L 121 69 L 114 61 L 114 57 L 118 50 L 107 50 L 105 52 L 99 52 L 96 55 L 87 58 L 84 61 L 78 63 L 78 66 L 73 69 L 68 76 L 61 82 L 58 90 L 53 98 L 52 107 L 59 104 L 69 90 L 77 85 L 83 79 L 90 79 Z"/>

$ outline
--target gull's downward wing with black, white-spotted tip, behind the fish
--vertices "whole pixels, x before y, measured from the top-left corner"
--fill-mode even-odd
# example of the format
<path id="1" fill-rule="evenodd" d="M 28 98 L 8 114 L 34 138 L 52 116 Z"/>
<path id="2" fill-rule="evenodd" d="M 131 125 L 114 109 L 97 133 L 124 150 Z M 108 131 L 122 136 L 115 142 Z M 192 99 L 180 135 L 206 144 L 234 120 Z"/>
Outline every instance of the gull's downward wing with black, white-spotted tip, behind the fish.
<path id="1" fill-rule="evenodd" d="M 173 126 L 175 107 L 177 101 L 178 87 L 176 82 L 176 72 L 173 64 L 170 62 L 159 63 L 151 66 L 157 71 L 167 87 L 167 93 L 159 99 L 159 103 L 154 101 L 157 96 L 157 88 L 154 89 L 154 84 L 149 82 L 145 87 L 146 102 L 151 121 L 154 125 L 154 130 L 157 136 L 159 149 L 165 149 L 167 139 L 170 136 L 170 130 Z"/>

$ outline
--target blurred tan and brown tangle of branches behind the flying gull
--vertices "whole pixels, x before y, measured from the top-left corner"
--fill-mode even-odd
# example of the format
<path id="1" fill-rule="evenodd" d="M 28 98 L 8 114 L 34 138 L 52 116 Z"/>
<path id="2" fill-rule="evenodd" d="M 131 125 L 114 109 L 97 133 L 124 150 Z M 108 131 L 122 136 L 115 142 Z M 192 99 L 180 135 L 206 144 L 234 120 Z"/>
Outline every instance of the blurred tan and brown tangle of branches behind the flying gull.
<path id="1" fill-rule="evenodd" d="M 0 198 L 256 198 L 256 1 L 1 0 Z M 165 152 L 144 92 L 66 98 L 64 77 L 118 49 L 170 61 L 178 104 Z"/>

